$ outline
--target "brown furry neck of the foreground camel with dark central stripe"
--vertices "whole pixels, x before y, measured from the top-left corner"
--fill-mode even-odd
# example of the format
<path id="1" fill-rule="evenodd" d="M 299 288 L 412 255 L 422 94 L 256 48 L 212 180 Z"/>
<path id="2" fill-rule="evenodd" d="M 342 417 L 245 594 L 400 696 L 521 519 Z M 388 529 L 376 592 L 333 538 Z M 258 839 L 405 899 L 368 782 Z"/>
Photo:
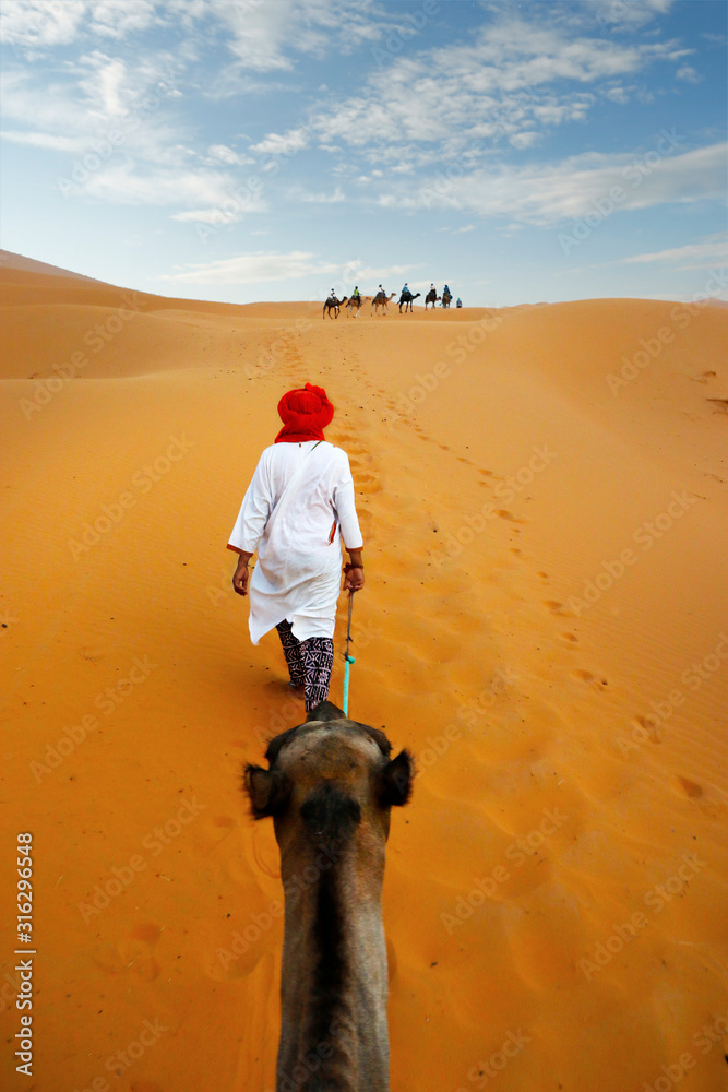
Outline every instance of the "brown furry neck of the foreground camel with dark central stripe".
<path id="1" fill-rule="evenodd" d="M 283 863 L 286 916 L 276 1092 L 387 1092 L 387 968 L 381 867 L 355 846 Z M 363 880 L 362 880 L 363 877 Z"/>

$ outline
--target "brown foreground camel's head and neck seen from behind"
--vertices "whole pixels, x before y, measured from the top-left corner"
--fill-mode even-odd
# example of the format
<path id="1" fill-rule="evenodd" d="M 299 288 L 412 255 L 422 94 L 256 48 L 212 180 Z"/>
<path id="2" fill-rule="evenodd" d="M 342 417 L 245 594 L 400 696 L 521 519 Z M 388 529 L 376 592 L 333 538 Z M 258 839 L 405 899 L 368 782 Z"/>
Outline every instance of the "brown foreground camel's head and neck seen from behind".
<path id="1" fill-rule="evenodd" d="M 390 811 L 413 759 L 329 701 L 248 765 L 253 818 L 273 817 L 285 894 L 276 1092 L 389 1092 L 382 924 Z M 324 1052 L 325 1047 L 325 1052 Z"/>

